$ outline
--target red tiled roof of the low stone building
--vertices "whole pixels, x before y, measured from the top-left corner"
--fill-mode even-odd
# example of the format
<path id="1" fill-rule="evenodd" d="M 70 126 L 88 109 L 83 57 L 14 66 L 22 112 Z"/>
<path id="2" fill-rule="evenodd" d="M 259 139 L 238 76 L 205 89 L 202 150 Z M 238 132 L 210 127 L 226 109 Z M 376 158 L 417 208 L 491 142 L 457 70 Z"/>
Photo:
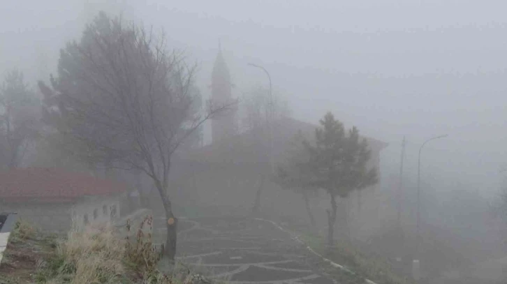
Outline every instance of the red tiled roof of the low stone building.
<path id="1" fill-rule="evenodd" d="M 54 168 L 0 172 L 0 201 L 6 202 L 73 202 L 87 195 L 110 195 L 126 190 L 126 185 L 118 181 Z"/>

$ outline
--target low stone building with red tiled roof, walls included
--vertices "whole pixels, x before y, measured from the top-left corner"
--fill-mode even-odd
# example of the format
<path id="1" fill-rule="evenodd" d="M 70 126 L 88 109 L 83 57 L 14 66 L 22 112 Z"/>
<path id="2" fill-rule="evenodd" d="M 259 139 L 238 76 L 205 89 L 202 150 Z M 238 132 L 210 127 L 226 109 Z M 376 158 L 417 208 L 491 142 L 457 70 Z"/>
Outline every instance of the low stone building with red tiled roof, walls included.
<path id="1" fill-rule="evenodd" d="M 120 216 L 127 187 L 87 174 L 32 167 L 0 173 L 0 212 L 15 212 L 41 230 L 65 232 Z"/>

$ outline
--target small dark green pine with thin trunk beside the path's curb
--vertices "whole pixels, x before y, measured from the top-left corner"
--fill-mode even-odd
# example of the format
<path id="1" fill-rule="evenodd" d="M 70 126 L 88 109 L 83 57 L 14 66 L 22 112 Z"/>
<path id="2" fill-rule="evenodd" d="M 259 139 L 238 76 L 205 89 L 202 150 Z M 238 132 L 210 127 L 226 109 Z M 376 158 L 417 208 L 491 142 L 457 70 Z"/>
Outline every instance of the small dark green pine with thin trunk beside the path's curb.
<path id="1" fill-rule="evenodd" d="M 377 169 L 367 168 L 370 150 L 365 139 L 353 127 L 346 133 L 343 124 L 328 112 L 315 130 L 315 142 L 304 141 L 309 153 L 308 174 L 304 184 L 324 188 L 330 195 L 328 212 L 328 244 L 333 244 L 337 218 L 337 197 L 345 198 L 353 190 L 372 186 L 377 182 Z"/>

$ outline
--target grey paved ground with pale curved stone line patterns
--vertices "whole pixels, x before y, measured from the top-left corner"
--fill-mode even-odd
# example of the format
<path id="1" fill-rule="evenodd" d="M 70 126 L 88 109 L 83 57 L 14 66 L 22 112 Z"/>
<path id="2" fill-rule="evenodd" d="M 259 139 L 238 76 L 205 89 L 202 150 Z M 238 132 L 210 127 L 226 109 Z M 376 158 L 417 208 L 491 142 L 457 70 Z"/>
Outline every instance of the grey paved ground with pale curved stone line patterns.
<path id="1" fill-rule="evenodd" d="M 299 244 L 271 223 L 195 218 L 180 219 L 178 227 L 177 258 L 228 283 L 334 283 L 309 263 Z"/>

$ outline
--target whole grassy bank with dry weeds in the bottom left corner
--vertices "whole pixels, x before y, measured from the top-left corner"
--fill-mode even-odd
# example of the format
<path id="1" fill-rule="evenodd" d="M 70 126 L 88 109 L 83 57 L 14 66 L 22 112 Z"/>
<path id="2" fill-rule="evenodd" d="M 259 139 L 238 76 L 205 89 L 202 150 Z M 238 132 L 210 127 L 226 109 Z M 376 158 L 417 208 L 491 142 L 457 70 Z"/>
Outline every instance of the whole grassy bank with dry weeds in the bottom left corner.
<path id="1" fill-rule="evenodd" d="M 169 275 L 161 273 L 157 269 L 160 254 L 151 236 L 142 230 L 133 232 L 124 239 L 111 227 L 88 227 L 58 238 L 17 223 L 0 266 L 0 284 L 172 284 L 201 277 L 183 266 Z"/>

